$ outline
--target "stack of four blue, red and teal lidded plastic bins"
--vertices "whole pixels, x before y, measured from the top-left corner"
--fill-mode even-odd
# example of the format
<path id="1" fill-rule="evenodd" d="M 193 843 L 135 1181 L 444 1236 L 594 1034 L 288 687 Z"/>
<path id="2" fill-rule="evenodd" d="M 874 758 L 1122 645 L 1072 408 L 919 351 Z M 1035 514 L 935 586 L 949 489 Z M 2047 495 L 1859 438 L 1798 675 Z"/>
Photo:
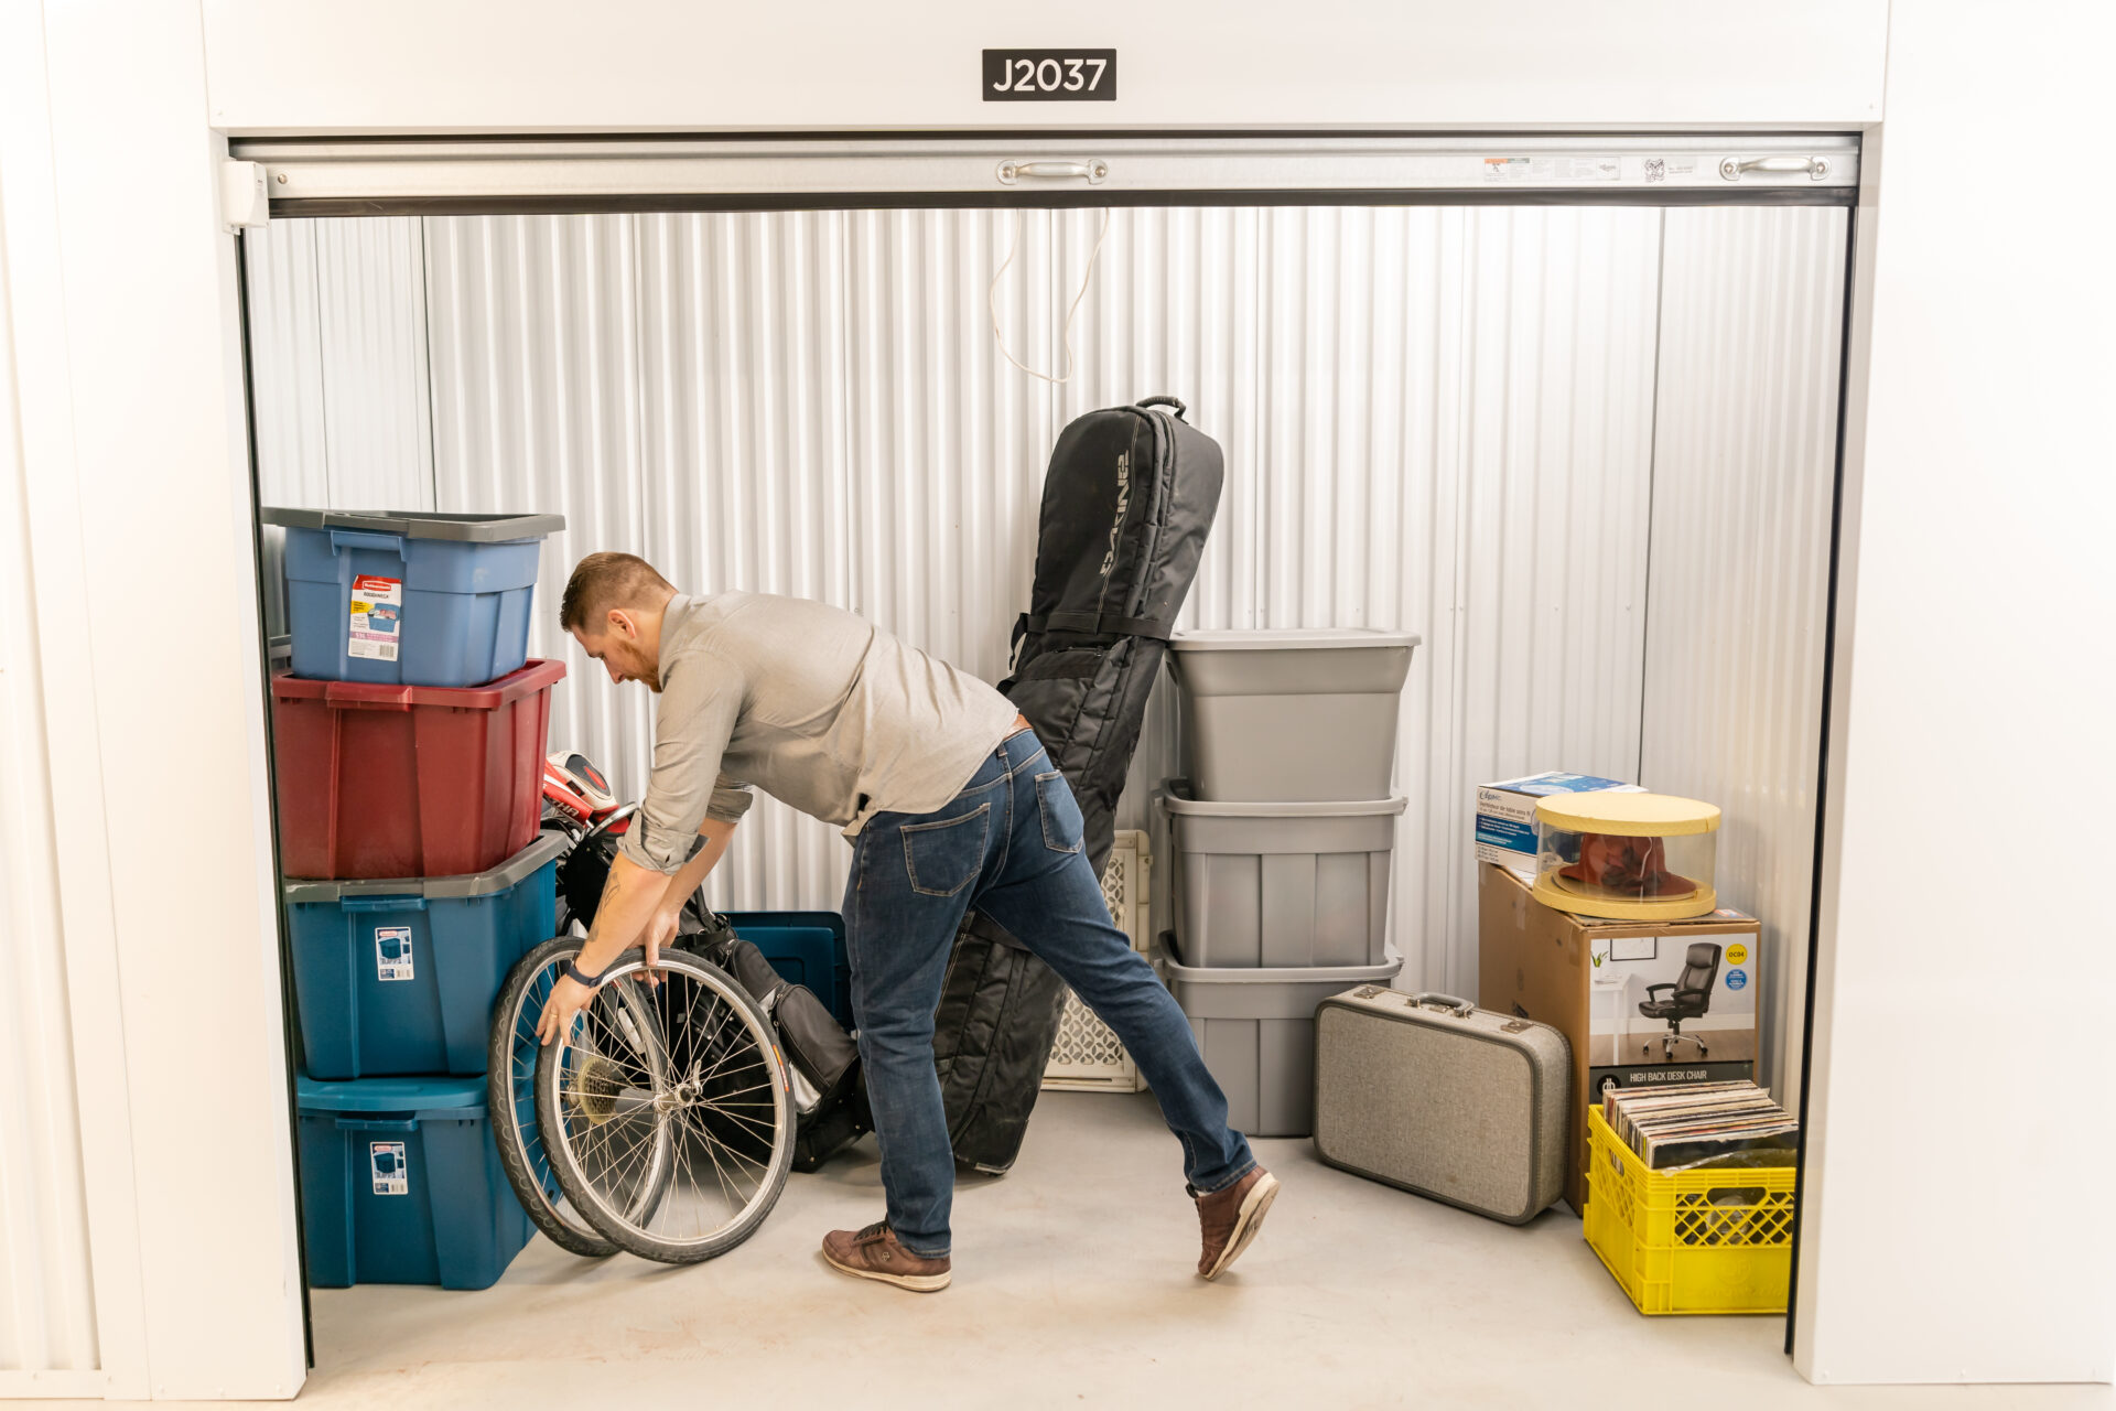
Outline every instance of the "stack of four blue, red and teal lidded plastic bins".
<path id="1" fill-rule="evenodd" d="M 309 1282 L 487 1288 L 529 1242 L 485 1108 L 493 998 L 554 927 L 550 688 L 529 609 L 557 514 L 264 510 L 286 527 L 273 675 L 300 1015 Z"/>

